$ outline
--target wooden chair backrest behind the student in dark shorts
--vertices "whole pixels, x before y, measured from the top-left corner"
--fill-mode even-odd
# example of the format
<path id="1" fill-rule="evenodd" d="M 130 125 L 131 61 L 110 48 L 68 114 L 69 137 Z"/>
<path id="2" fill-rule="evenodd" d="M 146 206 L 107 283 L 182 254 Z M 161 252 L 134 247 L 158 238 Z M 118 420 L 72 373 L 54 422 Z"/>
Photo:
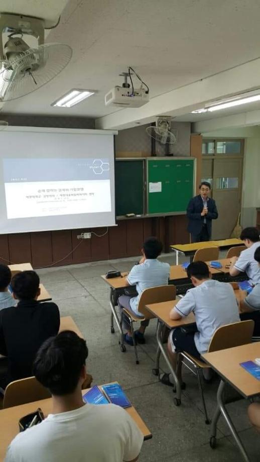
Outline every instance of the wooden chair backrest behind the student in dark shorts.
<path id="1" fill-rule="evenodd" d="M 217 352 L 226 348 L 240 347 L 240 345 L 251 343 L 253 328 L 254 321 L 251 319 L 222 325 L 215 331 L 211 338 L 208 352 Z"/>

